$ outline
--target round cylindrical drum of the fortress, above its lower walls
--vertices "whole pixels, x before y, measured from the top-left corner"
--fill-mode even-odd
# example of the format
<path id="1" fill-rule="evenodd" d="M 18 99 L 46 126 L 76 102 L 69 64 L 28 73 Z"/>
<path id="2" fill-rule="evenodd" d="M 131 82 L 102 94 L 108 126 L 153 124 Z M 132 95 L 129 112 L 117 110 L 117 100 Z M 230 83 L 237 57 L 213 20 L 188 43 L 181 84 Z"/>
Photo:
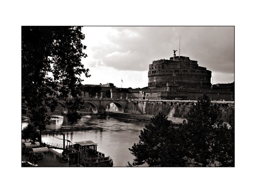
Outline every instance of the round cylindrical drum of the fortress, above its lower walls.
<path id="1" fill-rule="evenodd" d="M 149 65 L 148 87 L 165 87 L 169 83 L 168 86 L 211 89 L 211 77 L 212 72 L 198 66 L 197 61 L 176 56 Z"/>

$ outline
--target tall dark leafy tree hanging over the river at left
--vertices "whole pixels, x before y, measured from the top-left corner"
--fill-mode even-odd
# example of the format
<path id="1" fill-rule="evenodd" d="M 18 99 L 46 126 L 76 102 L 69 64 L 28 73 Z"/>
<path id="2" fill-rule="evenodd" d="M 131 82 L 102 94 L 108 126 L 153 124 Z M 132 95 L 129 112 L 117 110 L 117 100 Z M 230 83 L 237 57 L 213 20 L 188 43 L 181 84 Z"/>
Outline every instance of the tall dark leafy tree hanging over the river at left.
<path id="1" fill-rule="evenodd" d="M 87 57 L 83 39 L 81 27 L 21 28 L 22 114 L 28 114 L 29 125 L 40 130 L 40 137 L 51 120 L 46 106 L 53 112 L 58 99 L 65 101 L 71 124 L 81 120 L 76 112 L 83 108 L 80 76 L 90 77 L 81 64 Z"/>

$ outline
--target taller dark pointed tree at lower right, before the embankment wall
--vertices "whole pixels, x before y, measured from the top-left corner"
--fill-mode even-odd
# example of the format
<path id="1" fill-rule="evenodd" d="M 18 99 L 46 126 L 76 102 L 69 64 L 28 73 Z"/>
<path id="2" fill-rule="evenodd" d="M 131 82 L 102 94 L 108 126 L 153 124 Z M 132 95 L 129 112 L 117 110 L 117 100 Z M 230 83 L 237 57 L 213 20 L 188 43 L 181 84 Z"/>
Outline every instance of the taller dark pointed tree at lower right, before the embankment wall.
<path id="1" fill-rule="evenodd" d="M 184 145 L 187 149 L 188 166 L 218 166 L 217 158 L 224 148 L 223 140 L 228 127 L 221 119 L 222 112 L 209 97 L 198 98 L 188 113 L 187 121 L 183 121 L 181 129 L 185 135 Z"/>

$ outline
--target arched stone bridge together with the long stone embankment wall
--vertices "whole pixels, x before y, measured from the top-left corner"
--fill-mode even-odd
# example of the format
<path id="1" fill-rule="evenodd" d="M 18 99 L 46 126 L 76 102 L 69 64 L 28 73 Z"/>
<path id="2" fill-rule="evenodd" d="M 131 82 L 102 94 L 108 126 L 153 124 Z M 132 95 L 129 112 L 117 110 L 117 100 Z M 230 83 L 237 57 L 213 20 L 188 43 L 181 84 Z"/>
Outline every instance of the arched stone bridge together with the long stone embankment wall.
<path id="1" fill-rule="evenodd" d="M 114 98 L 85 98 L 84 103 L 92 107 L 92 111 L 97 114 L 105 114 L 108 111 L 108 105 L 114 103 L 117 112 L 141 114 L 141 115 L 157 115 L 163 112 L 167 117 L 186 118 L 190 106 L 196 104 L 197 101 L 190 100 L 148 100 L 148 99 L 114 99 Z M 59 104 L 65 107 L 64 101 L 57 100 Z M 222 119 L 227 122 L 231 110 L 234 109 L 234 101 L 212 101 L 222 111 Z"/>

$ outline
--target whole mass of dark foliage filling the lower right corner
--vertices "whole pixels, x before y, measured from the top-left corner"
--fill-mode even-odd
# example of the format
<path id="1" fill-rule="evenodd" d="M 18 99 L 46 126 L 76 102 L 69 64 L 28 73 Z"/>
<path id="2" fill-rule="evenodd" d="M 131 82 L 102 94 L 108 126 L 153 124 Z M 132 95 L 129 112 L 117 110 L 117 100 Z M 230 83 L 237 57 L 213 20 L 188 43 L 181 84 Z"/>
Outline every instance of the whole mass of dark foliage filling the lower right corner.
<path id="1" fill-rule="evenodd" d="M 159 113 L 141 130 L 139 143 L 129 149 L 136 158 L 128 166 L 234 166 L 234 113 L 230 128 L 221 116 L 207 95 L 198 98 L 178 128 Z"/>

